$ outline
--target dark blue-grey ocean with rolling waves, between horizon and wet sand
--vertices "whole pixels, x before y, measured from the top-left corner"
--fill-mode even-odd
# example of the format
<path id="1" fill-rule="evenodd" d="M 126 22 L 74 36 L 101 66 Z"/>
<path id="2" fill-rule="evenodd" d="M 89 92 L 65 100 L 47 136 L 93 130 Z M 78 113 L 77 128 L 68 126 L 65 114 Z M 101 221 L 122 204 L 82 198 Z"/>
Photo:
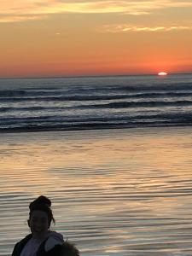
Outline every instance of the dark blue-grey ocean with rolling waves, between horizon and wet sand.
<path id="1" fill-rule="evenodd" d="M 0 79 L 0 131 L 192 124 L 192 74 Z"/>

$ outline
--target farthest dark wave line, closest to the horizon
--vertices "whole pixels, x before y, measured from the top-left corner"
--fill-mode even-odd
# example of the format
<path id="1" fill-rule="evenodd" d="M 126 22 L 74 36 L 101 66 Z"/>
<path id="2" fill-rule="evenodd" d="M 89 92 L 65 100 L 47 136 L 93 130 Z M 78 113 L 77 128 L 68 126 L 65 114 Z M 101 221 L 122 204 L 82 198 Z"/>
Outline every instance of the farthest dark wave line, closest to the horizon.
<path id="1" fill-rule="evenodd" d="M 107 96 L 110 95 L 129 95 L 129 94 L 142 94 L 143 96 L 148 95 L 170 95 L 174 96 L 179 93 L 184 93 L 185 95 L 190 93 L 192 94 L 192 82 L 189 83 L 179 83 L 177 84 L 174 81 L 174 84 L 144 84 L 144 81 L 139 84 L 79 84 L 69 86 L 55 86 L 55 87 L 44 87 L 39 86 L 36 88 L 26 87 L 23 90 L 19 89 L 5 89 L 0 90 L 0 98 L 20 98 L 20 97 L 33 97 L 33 96 L 67 96 L 69 98 L 78 97 L 78 96 Z M 80 98 L 81 99 L 81 98 Z M 97 98 L 96 98 L 97 99 Z"/>

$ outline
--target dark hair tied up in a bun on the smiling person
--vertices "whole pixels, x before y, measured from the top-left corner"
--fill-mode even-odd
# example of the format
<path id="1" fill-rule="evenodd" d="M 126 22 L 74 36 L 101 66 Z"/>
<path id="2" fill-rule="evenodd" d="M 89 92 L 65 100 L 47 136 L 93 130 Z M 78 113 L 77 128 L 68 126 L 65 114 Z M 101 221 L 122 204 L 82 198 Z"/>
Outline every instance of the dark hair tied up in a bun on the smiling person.
<path id="1" fill-rule="evenodd" d="M 53 212 L 51 210 L 51 201 L 48 197 L 40 195 L 37 199 L 32 201 L 29 205 L 29 219 L 32 217 L 32 212 L 42 211 L 46 212 L 48 216 L 49 225 L 51 221 L 55 223 L 55 218 L 53 217 Z"/>

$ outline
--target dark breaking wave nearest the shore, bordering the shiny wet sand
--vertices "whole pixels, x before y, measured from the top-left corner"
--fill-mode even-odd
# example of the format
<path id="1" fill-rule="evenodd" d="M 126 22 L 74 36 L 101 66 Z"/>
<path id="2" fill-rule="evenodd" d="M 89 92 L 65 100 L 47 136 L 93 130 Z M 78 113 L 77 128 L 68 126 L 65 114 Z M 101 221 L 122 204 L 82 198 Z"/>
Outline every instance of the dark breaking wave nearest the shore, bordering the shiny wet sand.
<path id="1" fill-rule="evenodd" d="M 58 131 L 131 128 L 143 126 L 192 125 L 192 113 L 160 113 L 106 117 L 9 117 L 3 118 L 0 131 Z"/>

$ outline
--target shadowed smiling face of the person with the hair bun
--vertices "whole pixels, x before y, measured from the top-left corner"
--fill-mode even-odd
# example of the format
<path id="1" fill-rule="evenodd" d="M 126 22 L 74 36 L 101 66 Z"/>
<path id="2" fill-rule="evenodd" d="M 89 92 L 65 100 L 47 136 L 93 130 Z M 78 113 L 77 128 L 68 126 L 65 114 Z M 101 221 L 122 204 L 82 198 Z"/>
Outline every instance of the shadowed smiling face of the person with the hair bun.
<path id="1" fill-rule="evenodd" d="M 34 211 L 28 221 L 32 231 L 32 236 L 36 238 L 44 238 L 49 230 L 49 221 L 46 212 Z"/>

